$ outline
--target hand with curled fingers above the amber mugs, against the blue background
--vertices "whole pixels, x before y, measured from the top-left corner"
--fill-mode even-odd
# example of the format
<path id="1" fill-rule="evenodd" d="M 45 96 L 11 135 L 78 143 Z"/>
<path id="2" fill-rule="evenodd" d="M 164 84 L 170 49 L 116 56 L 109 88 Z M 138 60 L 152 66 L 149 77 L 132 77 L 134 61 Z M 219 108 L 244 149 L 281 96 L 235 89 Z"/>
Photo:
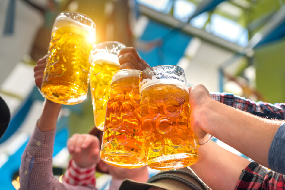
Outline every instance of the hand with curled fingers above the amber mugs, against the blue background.
<path id="1" fill-rule="evenodd" d="M 120 69 L 137 69 L 143 71 L 150 66 L 141 59 L 138 52 L 133 47 L 122 49 L 119 54 Z"/>

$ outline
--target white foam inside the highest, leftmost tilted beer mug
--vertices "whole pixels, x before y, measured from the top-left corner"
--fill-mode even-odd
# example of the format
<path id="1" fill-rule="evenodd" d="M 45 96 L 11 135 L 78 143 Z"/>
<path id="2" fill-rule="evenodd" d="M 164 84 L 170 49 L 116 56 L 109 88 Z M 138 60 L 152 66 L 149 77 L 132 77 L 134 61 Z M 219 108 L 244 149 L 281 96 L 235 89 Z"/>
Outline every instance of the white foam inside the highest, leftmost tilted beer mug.
<path id="1" fill-rule="evenodd" d="M 83 24 L 83 23 L 80 23 L 78 21 L 75 21 L 72 18 L 69 18 L 69 17 L 67 17 L 65 15 L 60 15 L 59 17 L 57 17 L 57 20 L 54 23 L 54 27 L 53 27 L 52 32 L 54 30 L 57 30 L 60 27 L 64 27 L 64 26 L 68 26 L 68 25 L 79 26 L 79 27 L 83 28 L 84 30 L 86 30 L 88 33 L 90 33 L 90 35 L 94 35 L 95 36 L 95 33 L 96 33 L 96 29 L 94 28 L 95 24 L 94 24 L 94 27 L 88 26 L 86 24 Z"/>

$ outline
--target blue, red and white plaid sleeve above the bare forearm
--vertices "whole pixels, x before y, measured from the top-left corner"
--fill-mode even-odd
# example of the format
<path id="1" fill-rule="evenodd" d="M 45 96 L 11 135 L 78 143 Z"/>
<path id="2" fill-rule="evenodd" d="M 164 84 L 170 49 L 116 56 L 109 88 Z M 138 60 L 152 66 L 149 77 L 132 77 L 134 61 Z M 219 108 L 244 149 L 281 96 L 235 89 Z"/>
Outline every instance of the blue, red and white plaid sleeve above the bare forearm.
<path id="1" fill-rule="evenodd" d="M 213 100 L 268 119 L 285 119 L 285 103 L 254 102 L 233 93 L 211 92 Z"/>

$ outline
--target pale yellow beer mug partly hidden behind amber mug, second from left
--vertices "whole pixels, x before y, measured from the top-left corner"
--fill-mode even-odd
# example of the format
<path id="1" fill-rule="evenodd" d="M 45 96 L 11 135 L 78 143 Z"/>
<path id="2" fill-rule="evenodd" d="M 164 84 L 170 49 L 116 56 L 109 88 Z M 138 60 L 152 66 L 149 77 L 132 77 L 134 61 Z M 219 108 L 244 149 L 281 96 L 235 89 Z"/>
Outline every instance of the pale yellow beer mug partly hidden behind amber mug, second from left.
<path id="1" fill-rule="evenodd" d="M 111 80 L 120 64 L 118 54 L 126 46 L 120 42 L 96 44 L 92 51 L 90 87 L 95 126 L 103 131 Z"/>

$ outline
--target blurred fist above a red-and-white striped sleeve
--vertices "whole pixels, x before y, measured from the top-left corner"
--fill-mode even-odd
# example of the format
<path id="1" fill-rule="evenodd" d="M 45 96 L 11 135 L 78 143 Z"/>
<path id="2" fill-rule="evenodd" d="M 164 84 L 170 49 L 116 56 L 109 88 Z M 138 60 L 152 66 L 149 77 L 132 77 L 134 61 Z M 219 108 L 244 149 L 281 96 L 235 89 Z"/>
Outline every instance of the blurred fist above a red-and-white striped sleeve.
<path id="1" fill-rule="evenodd" d="M 74 134 L 68 139 L 67 148 L 75 163 L 90 167 L 100 162 L 99 139 L 90 134 Z"/>

